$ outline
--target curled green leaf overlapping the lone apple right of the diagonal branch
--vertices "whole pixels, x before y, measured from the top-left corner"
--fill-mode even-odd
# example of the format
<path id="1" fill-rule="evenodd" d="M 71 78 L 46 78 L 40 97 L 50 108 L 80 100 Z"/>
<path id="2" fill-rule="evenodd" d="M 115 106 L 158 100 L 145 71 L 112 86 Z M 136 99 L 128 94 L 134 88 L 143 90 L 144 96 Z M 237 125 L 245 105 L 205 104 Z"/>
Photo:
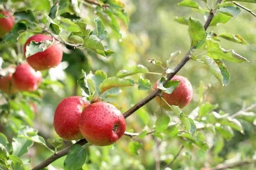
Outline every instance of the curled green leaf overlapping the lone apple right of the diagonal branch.
<path id="1" fill-rule="evenodd" d="M 177 88 L 180 85 L 180 81 L 167 81 L 165 85 L 163 85 L 163 82 L 166 80 L 165 77 L 162 77 L 160 81 L 157 83 L 157 88 L 161 89 L 167 94 L 171 94 L 175 88 Z"/>

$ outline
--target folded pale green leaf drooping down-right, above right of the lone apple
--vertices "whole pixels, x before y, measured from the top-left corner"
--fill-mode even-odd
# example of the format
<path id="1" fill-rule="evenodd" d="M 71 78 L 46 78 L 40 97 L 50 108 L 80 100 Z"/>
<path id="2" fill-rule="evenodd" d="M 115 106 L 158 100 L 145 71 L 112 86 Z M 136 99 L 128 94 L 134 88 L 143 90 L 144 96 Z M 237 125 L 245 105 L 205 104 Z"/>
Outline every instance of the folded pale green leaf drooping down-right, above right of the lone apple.
<path id="1" fill-rule="evenodd" d="M 212 71 L 212 74 L 222 83 L 222 85 L 228 85 L 230 82 L 230 73 L 225 65 L 223 65 L 220 61 L 215 61 L 208 56 L 203 56 L 201 60 L 208 65 Z"/>

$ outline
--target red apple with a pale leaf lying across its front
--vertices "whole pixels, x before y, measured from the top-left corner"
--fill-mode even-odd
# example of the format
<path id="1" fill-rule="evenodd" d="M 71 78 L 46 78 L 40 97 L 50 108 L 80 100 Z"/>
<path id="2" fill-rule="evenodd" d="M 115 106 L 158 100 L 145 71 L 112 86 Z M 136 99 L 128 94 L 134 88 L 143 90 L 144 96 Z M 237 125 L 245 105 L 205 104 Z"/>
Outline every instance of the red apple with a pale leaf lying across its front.
<path id="1" fill-rule="evenodd" d="M 44 40 L 52 40 L 52 37 L 44 34 L 37 34 L 30 37 L 24 45 L 24 56 L 26 56 L 26 45 L 29 44 L 32 40 L 35 42 L 40 42 Z M 55 41 L 56 43 L 58 41 Z M 61 44 L 55 44 L 47 48 L 43 52 L 38 52 L 30 57 L 26 58 L 26 61 L 29 65 L 34 68 L 36 71 L 47 70 L 49 68 L 55 68 L 61 63 L 63 51 Z"/>

